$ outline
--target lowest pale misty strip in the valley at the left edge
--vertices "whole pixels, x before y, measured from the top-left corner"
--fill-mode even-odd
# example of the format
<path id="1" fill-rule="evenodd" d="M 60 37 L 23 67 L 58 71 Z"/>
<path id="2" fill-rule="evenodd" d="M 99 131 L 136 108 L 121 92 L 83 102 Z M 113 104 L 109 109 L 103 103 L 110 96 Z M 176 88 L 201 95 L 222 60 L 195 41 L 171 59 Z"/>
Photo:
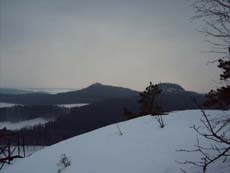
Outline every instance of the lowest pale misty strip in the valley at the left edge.
<path id="1" fill-rule="evenodd" d="M 17 130 L 22 128 L 30 128 L 31 126 L 38 125 L 38 124 L 45 124 L 51 120 L 44 119 L 44 118 L 35 118 L 26 121 L 19 121 L 19 122 L 9 122 L 3 121 L 0 122 L 0 129 L 6 127 L 9 130 Z"/>

